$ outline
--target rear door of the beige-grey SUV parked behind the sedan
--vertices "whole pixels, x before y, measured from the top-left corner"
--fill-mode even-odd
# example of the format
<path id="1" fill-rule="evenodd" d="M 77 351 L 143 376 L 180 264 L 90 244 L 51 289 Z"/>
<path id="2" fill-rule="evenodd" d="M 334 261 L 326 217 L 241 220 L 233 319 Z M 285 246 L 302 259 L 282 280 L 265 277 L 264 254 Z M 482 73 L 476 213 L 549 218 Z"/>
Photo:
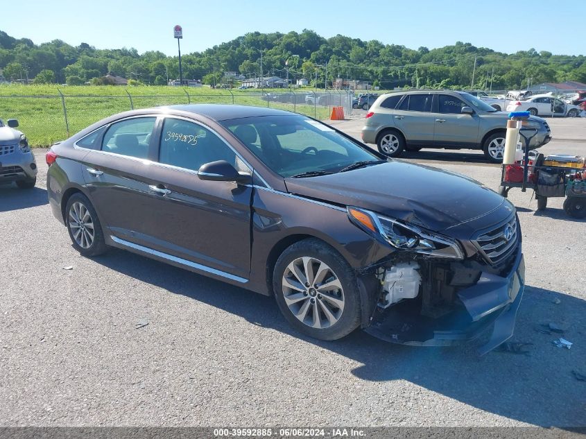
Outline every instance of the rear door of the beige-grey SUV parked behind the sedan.
<path id="1" fill-rule="evenodd" d="M 433 143 L 432 95 L 408 94 L 393 112 L 395 126 L 405 135 L 407 144 L 431 145 Z"/>

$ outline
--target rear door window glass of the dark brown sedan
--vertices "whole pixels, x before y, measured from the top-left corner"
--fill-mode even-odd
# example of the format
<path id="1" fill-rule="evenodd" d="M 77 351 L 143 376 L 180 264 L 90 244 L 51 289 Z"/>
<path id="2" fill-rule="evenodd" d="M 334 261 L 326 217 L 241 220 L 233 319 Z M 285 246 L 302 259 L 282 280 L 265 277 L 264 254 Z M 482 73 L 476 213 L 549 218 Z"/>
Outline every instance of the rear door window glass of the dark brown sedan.
<path id="1" fill-rule="evenodd" d="M 135 117 L 112 123 L 104 135 L 102 150 L 139 159 L 148 158 L 148 144 L 156 120 L 156 117 Z"/>

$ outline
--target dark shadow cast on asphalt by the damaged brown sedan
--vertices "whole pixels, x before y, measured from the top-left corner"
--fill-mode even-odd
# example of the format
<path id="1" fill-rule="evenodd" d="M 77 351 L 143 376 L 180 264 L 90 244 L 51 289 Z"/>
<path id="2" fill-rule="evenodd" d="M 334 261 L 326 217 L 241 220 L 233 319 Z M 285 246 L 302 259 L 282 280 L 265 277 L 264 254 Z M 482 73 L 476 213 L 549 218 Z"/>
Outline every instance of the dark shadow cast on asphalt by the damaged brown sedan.
<path id="1" fill-rule="evenodd" d="M 533 343 L 531 352 L 493 351 L 479 358 L 472 344 L 408 347 L 380 341 L 360 330 L 339 341 L 318 341 L 289 327 L 273 298 L 122 250 L 112 250 L 95 261 L 170 293 L 241 316 L 254 325 L 346 356 L 362 364 L 350 371 L 359 379 L 411 381 L 479 410 L 528 424 L 586 426 L 586 383 L 571 373 L 586 373 L 586 302 L 579 298 L 527 286 L 511 340 Z M 575 343 L 571 350 L 553 345 L 561 334 L 537 331 L 549 322 L 567 329 L 563 336 Z"/>

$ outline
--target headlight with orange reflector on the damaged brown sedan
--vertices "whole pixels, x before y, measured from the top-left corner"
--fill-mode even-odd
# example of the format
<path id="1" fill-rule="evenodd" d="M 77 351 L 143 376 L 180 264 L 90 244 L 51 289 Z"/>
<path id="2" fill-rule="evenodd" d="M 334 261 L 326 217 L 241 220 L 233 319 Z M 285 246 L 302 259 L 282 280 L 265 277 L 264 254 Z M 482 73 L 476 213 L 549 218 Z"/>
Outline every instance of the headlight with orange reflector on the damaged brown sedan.
<path id="1" fill-rule="evenodd" d="M 464 259 L 463 251 L 454 239 L 421 230 L 419 227 L 380 216 L 357 207 L 347 208 L 352 223 L 382 239 L 397 250 L 420 253 L 431 257 Z"/>

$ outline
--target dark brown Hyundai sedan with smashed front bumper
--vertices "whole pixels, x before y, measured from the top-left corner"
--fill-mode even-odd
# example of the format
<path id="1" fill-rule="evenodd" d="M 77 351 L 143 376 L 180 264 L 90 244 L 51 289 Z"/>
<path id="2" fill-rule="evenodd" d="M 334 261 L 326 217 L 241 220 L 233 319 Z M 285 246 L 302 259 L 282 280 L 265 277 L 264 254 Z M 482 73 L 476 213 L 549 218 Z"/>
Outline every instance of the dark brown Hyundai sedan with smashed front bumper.
<path id="1" fill-rule="evenodd" d="M 515 207 L 300 114 L 134 110 L 46 162 L 51 210 L 83 256 L 121 248 L 274 295 L 295 329 L 322 340 L 362 327 L 445 345 L 492 327 L 484 354 L 513 334 L 525 284 Z"/>

